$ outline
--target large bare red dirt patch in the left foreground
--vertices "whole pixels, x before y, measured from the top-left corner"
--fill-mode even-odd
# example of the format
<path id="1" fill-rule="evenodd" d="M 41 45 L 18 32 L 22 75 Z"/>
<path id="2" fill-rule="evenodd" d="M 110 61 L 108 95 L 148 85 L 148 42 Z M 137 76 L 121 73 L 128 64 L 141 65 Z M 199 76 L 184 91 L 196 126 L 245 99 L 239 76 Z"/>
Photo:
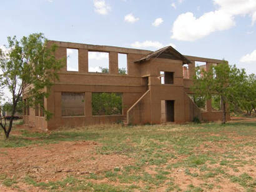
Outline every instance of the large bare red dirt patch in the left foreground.
<path id="1" fill-rule="evenodd" d="M 36 181 L 56 181 L 67 173 L 84 175 L 131 165 L 134 160 L 123 155 L 97 155 L 96 142 L 61 142 L 22 148 L 0 149 L 0 173 L 17 179 L 29 175 Z"/>

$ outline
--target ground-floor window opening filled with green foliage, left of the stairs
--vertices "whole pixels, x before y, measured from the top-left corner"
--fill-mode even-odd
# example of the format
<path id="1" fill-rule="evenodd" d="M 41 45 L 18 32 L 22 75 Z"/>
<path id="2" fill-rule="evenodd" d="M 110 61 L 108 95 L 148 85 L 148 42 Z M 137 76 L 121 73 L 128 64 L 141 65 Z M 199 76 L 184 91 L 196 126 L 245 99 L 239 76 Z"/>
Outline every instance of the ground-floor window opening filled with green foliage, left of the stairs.
<path id="1" fill-rule="evenodd" d="M 122 115 L 122 94 L 92 93 L 92 115 Z"/>

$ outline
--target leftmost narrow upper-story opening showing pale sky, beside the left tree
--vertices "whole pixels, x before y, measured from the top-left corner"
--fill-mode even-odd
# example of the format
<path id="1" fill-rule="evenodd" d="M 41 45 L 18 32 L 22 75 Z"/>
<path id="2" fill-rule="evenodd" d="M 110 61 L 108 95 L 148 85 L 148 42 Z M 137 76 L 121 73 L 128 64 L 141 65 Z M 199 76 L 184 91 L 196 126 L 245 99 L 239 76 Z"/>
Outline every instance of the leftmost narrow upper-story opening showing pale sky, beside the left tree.
<path id="1" fill-rule="evenodd" d="M 78 49 L 67 49 L 67 71 L 78 70 Z"/>

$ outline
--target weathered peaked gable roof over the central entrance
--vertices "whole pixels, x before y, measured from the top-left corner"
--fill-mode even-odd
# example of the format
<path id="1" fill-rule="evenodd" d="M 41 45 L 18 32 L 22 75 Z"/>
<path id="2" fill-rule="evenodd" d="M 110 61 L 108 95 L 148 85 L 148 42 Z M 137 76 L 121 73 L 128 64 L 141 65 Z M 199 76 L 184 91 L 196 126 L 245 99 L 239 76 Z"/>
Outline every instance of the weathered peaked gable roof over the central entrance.
<path id="1" fill-rule="evenodd" d="M 142 57 L 140 60 L 136 60 L 135 63 L 142 63 L 152 58 L 162 58 L 162 59 L 173 59 L 173 60 L 182 60 L 183 64 L 190 64 L 191 61 L 184 57 L 184 55 L 180 54 L 176 49 L 172 46 L 167 46 L 159 50 L 155 50 L 145 57 Z"/>

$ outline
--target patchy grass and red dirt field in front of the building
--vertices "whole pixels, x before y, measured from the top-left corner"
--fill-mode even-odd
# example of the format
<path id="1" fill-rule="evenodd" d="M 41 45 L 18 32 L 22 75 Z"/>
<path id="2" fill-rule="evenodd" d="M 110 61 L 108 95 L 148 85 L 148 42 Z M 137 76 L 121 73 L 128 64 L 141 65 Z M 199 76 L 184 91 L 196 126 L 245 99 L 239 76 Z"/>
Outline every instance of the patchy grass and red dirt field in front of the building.
<path id="1" fill-rule="evenodd" d="M 255 136 L 256 119 L 51 133 L 16 125 L 0 140 L 0 191 L 255 191 Z"/>

